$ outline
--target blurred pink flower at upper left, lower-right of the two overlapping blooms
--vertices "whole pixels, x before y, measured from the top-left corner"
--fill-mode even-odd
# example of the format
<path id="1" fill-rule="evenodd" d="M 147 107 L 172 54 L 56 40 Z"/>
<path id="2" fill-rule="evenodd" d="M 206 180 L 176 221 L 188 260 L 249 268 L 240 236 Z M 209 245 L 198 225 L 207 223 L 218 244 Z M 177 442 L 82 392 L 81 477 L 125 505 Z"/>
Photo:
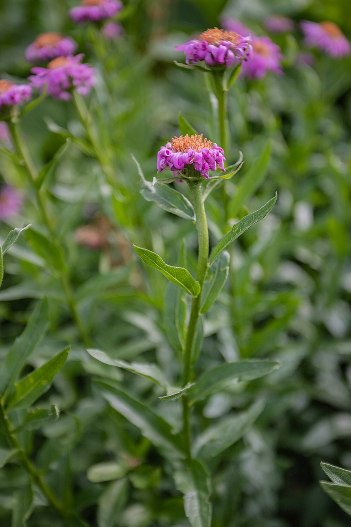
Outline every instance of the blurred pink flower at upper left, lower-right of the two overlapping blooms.
<path id="1" fill-rule="evenodd" d="M 72 95 L 69 93 L 73 87 L 84 97 L 89 94 L 95 83 L 95 68 L 89 64 L 81 64 L 84 55 L 57 57 L 49 62 L 47 68 L 33 67 L 31 72 L 35 75 L 28 77 L 32 85 L 44 90 L 54 99 L 68 101 Z"/>

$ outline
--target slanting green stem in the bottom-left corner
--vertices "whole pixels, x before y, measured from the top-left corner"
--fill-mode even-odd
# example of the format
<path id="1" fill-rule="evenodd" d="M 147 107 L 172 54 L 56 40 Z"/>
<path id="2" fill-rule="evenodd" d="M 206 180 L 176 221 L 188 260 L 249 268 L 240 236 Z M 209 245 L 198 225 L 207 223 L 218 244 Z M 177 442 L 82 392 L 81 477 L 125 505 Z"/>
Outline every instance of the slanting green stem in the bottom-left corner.
<path id="1" fill-rule="evenodd" d="M 58 512 L 58 514 L 62 516 L 66 524 L 70 527 L 88 527 L 88 524 L 81 518 L 79 518 L 73 511 L 67 511 L 66 505 L 62 504 L 57 500 L 53 491 L 43 480 L 42 476 L 37 472 L 31 460 L 28 459 L 26 453 L 22 450 L 21 444 L 19 443 L 16 435 L 11 432 L 11 426 L 5 415 L 2 403 L 0 403 L 0 427 L 2 428 L 2 431 L 6 436 L 9 446 L 11 448 L 14 448 L 15 450 L 18 450 L 19 464 L 32 477 L 34 483 L 43 491 L 49 503 L 56 510 L 56 512 Z"/>

